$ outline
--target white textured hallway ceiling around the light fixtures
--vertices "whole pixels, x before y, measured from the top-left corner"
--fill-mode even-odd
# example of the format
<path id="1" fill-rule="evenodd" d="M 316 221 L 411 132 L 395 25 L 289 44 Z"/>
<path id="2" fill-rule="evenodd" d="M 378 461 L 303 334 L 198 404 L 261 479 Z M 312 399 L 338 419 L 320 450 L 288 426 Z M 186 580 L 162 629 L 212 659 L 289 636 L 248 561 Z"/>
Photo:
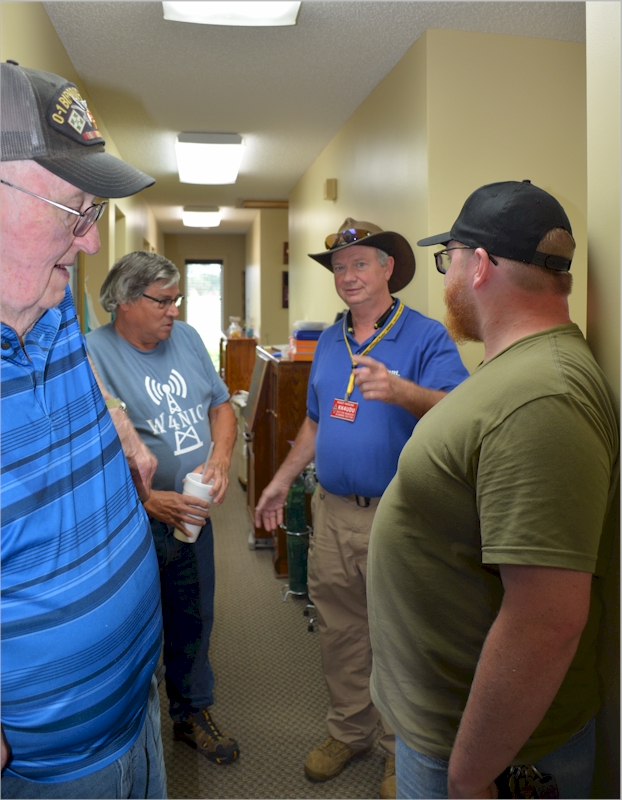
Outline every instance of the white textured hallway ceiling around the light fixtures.
<path id="1" fill-rule="evenodd" d="M 285 28 L 168 22 L 159 2 L 44 6 L 121 155 L 156 178 L 144 197 L 165 233 L 192 232 L 183 205 L 224 207 L 195 231 L 245 233 L 256 212 L 242 201 L 286 200 L 426 28 L 585 41 L 583 2 L 303 0 Z M 242 134 L 237 182 L 180 183 L 181 131 Z"/>

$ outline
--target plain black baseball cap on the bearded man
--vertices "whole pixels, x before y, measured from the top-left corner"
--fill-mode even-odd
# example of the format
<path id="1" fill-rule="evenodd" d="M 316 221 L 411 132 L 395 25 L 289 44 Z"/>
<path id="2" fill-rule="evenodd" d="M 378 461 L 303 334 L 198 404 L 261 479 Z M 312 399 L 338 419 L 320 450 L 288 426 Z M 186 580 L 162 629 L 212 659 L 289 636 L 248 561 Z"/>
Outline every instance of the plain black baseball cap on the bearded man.
<path id="1" fill-rule="evenodd" d="M 447 233 L 420 239 L 419 247 L 460 242 L 491 255 L 567 272 L 572 259 L 538 251 L 543 236 L 563 228 L 572 236 L 566 212 L 553 195 L 531 181 L 502 181 L 471 194 Z"/>

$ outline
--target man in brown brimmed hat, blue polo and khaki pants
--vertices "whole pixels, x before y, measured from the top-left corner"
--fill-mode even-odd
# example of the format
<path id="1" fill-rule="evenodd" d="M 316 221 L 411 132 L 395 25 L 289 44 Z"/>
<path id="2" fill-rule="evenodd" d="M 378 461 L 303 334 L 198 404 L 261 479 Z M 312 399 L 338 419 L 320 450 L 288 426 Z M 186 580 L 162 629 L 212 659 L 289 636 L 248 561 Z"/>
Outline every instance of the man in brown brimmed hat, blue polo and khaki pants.
<path id="1" fill-rule="evenodd" d="M 366 565 L 378 501 L 395 474 L 418 420 L 468 373 L 445 328 L 407 308 L 392 293 L 415 272 L 403 236 L 346 219 L 311 258 L 331 270 L 347 315 L 323 332 L 313 360 L 307 418 L 256 509 L 256 524 L 273 530 L 288 489 L 315 458 L 309 595 L 315 603 L 322 665 L 330 694 L 329 738 L 305 763 L 315 780 L 338 775 L 371 749 L 380 715 L 369 695 L 371 648 Z M 392 731 L 381 797 L 395 793 Z"/>

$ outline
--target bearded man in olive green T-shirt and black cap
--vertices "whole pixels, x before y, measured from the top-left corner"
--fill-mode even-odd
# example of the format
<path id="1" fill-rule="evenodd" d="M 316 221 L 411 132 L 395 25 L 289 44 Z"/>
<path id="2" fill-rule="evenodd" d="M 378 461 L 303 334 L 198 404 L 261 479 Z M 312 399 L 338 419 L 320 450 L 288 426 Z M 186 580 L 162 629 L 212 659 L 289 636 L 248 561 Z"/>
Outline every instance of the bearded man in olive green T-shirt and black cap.
<path id="1" fill-rule="evenodd" d="M 570 222 L 507 181 L 419 244 L 443 246 L 448 328 L 485 355 L 415 429 L 371 535 L 372 697 L 398 796 L 589 797 L 618 424 L 569 317 Z"/>

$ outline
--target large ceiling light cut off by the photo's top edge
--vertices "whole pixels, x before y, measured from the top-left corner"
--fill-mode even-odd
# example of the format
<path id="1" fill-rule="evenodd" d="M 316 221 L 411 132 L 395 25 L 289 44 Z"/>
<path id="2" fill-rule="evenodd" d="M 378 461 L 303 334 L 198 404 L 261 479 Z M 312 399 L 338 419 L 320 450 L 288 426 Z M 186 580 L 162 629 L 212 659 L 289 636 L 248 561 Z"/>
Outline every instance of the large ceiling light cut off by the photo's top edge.
<path id="1" fill-rule="evenodd" d="M 279 0 L 264 3 L 262 0 L 240 3 L 190 2 L 162 3 L 164 19 L 173 22 L 194 22 L 201 25 L 244 25 L 248 27 L 295 25 L 300 3 Z"/>

